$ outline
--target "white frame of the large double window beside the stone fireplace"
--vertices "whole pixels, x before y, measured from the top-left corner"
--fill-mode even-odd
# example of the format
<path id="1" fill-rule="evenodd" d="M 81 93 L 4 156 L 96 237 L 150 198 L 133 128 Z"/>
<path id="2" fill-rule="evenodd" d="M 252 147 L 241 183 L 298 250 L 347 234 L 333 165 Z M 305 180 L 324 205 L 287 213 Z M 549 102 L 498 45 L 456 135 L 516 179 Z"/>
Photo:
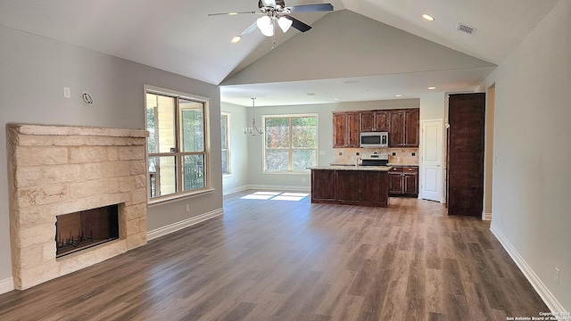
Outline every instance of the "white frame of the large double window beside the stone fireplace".
<path id="1" fill-rule="evenodd" d="M 147 94 L 153 95 L 163 95 L 171 98 L 175 98 L 175 108 L 174 108 L 174 133 L 175 133 L 175 152 L 153 152 L 149 153 L 149 138 L 145 141 L 145 181 L 147 185 L 147 203 L 160 203 L 166 201 L 173 201 L 177 199 L 182 199 L 187 196 L 193 196 L 201 193 L 210 193 L 213 191 L 212 188 L 212 167 L 211 167 L 211 120 L 210 120 L 210 103 L 211 99 L 199 95 L 190 95 L 186 93 L 181 93 L 178 91 L 164 89 L 155 86 L 145 85 L 145 129 L 147 126 Z M 179 100 L 187 100 L 195 103 L 203 104 L 203 152 L 184 152 L 182 147 L 182 132 L 183 126 L 181 123 L 180 115 L 182 109 L 180 108 Z M 183 163 L 184 157 L 188 155 L 203 155 L 203 167 L 204 167 L 204 186 L 202 188 L 193 189 L 189 191 L 183 191 L 184 189 L 184 173 L 183 173 Z M 176 192 L 168 193 L 165 195 L 151 197 L 151 177 L 149 173 L 149 158 L 150 157 L 163 157 L 163 156 L 173 156 L 176 161 Z M 156 178 L 155 178 L 156 179 Z"/>

